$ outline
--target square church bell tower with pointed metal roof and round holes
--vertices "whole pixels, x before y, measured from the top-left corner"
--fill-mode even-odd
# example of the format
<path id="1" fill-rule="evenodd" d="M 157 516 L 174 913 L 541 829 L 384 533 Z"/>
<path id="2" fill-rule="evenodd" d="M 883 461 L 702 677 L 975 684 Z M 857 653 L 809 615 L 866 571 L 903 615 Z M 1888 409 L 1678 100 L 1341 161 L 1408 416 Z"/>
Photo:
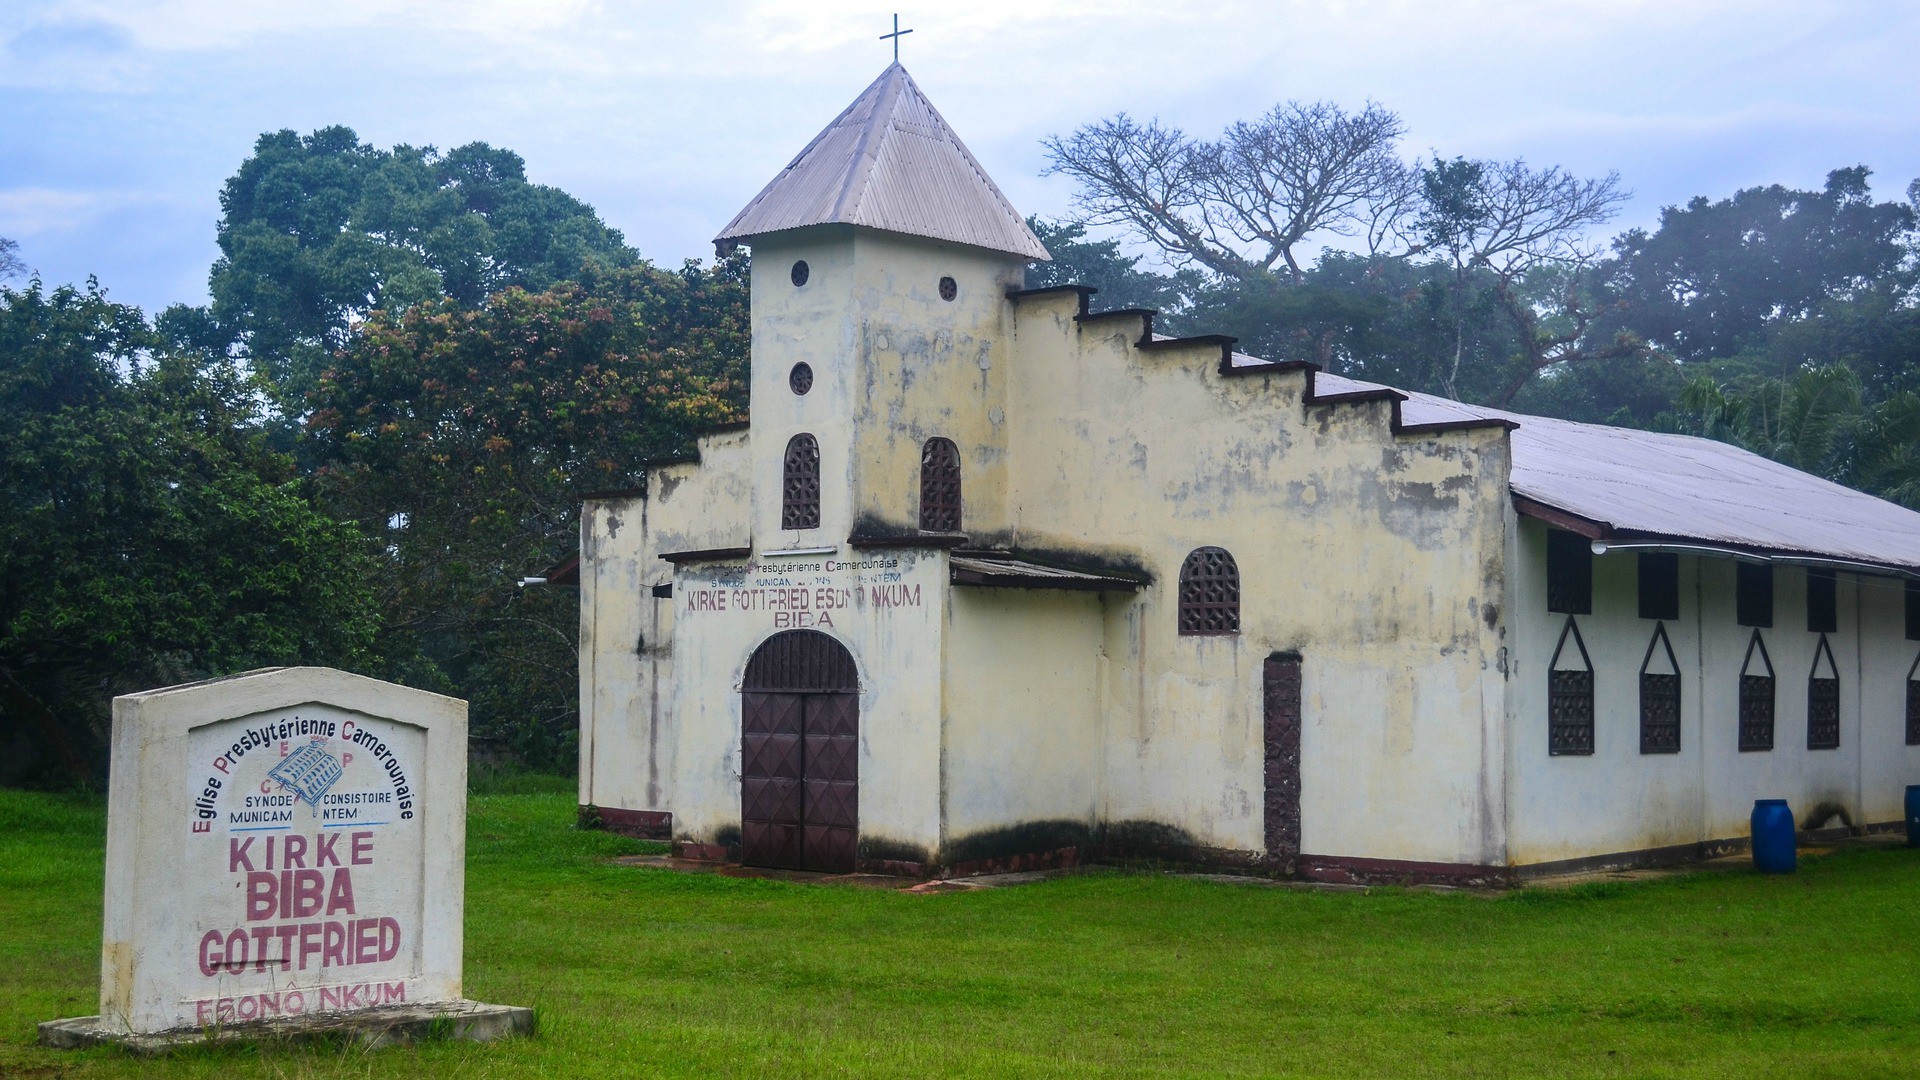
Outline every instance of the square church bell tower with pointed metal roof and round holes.
<path id="1" fill-rule="evenodd" d="M 758 552 L 1010 530 L 1006 292 L 1048 256 L 899 61 L 714 244 L 753 248 Z M 958 513 L 922 505 L 941 455 Z"/>

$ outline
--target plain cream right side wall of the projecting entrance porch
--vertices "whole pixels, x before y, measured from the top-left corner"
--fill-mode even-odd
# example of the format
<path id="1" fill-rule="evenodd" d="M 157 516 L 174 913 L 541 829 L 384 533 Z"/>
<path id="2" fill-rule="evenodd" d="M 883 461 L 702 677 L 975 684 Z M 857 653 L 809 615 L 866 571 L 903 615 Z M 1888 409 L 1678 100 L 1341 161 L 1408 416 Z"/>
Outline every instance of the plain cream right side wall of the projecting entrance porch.
<path id="1" fill-rule="evenodd" d="M 1100 594 L 952 588 L 947 621 L 943 861 L 1087 844 L 1102 780 Z"/>

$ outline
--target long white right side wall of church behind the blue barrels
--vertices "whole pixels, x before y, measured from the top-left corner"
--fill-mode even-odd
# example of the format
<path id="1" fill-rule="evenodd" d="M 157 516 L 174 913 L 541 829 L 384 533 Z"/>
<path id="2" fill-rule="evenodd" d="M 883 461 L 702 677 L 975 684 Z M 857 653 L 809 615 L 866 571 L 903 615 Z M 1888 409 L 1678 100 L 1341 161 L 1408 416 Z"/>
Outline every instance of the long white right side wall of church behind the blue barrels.
<path id="1" fill-rule="evenodd" d="M 1743 838 L 1753 801 L 1764 798 L 1788 799 L 1803 828 L 1822 824 L 1822 805 L 1859 824 L 1901 817 L 1903 786 L 1920 782 L 1920 749 L 1905 746 L 1912 646 L 1903 640 L 1899 582 L 1839 575 L 1837 630 L 1826 634 L 1839 675 L 1839 748 L 1809 749 L 1807 684 L 1820 634 L 1807 630 L 1807 571 L 1772 567 L 1774 619 L 1759 632 L 1776 673 L 1774 746 L 1741 751 L 1740 673 L 1755 628 L 1736 619 L 1736 563 L 1682 555 L 1680 619 L 1665 623 L 1682 675 L 1680 751 L 1642 753 L 1640 675 L 1655 621 L 1640 619 L 1638 555 L 1597 555 L 1594 611 L 1574 615 L 1594 667 L 1594 753 L 1549 755 L 1548 665 L 1569 617 L 1548 611 L 1546 534 L 1532 519 L 1515 532 L 1513 865 Z M 1576 653 L 1569 638 L 1559 667 L 1580 667 Z M 1670 671 L 1665 650 L 1657 653 L 1649 671 Z"/>

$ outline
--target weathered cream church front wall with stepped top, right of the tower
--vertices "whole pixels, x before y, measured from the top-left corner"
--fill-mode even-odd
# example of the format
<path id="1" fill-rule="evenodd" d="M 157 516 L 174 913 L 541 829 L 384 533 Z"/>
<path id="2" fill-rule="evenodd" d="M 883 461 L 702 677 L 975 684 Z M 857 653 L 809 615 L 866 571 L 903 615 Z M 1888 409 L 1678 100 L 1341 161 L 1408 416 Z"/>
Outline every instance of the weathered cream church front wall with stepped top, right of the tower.
<path id="1" fill-rule="evenodd" d="M 1501 863 L 1505 432 L 1396 434 L 1386 400 L 1073 315 L 1018 302 L 1010 511 L 1020 550 L 1152 575 L 1106 625 L 1100 817 L 1265 849 L 1261 669 L 1298 650 L 1304 851 Z M 1200 546 L 1238 563 L 1238 634 L 1177 634 Z"/>

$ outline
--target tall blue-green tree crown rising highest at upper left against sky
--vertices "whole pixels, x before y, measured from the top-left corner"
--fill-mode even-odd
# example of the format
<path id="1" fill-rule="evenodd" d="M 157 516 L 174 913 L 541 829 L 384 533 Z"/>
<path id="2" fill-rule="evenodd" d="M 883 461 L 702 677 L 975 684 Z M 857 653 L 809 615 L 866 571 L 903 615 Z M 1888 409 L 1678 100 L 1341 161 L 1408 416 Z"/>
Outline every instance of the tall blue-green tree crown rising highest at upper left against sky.
<path id="1" fill-rule="evenodd" d="M 221 192 L 211 323 L 298 411 L 357 319 L 432 300 L 474 307 L 634 252 L 520 156 L 472 142 L 378 150 L 346 127 L 261 135 Z"/>

